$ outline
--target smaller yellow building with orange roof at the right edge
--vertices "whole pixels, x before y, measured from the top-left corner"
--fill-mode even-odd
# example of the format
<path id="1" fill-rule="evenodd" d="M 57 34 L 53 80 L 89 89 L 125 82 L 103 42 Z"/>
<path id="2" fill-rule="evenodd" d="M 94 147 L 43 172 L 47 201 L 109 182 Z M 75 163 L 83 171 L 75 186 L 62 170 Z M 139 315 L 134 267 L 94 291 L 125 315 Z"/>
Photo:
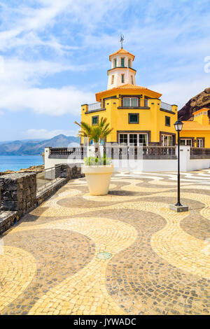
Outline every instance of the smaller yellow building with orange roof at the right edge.
<path id="1" fill-rule="evenodd" d="M 193 121 L 183 121 L 181 145 L 210 148 L 209 109 L 200 109 L 193 113 Z"/>

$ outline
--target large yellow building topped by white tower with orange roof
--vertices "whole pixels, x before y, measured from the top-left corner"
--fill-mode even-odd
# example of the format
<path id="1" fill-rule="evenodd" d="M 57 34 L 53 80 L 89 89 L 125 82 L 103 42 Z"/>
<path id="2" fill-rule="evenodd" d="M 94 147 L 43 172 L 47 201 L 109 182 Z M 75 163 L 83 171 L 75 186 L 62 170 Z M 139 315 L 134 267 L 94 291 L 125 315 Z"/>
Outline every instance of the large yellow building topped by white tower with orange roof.
<path id="1" fill-rule="evenodd" d="M 136 85 L 134 55 L 130 52 L 121 48 L 109 60 L 107 90 L 96 93 L 97 103 L 81 106 L 81 120 L 97 125 L 100 118 L 106 117 L 113 127 L 106 139 L 109 143 L 175 145 L 177 106 L 161 102 L 159 92 Z"/>

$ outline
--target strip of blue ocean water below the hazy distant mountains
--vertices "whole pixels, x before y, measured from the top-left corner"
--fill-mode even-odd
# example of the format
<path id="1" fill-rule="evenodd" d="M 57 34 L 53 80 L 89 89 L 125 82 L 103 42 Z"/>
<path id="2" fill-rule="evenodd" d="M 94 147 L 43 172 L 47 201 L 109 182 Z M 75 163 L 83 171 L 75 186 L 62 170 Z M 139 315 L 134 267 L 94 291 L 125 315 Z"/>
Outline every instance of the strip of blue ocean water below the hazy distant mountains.
<path id="1" fill-rule="evenodd" d="M 41 155 L 0 155 L 0 172 L 43 165 Z"/>

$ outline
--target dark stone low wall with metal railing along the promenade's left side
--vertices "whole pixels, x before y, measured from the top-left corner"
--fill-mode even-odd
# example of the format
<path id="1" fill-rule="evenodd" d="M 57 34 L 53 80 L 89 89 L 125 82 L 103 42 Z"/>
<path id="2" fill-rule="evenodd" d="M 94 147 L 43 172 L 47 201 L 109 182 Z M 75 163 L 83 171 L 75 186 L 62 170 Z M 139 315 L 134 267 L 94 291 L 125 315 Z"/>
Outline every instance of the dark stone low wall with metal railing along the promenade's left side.
<path id="1" fill-rule="evenodd" d="M 36 208 L 69 179 L 83 177 L 80 165 L 56 165 L 38 174 L 0 176 L 0 234 Z"/>

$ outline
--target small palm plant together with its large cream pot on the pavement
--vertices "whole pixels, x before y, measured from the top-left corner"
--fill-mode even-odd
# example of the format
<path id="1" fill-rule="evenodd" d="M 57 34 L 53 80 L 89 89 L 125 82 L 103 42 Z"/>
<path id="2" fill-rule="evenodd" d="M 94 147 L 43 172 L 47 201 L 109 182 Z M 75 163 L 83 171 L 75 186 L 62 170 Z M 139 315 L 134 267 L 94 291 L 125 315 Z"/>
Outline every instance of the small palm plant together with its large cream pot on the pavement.
<path id="1" fill-rule="evenodd" d="M 82 172 L 87 179 L 87 185 L 90 195 L 106 195 L 109 192 L 109 184 L 113 173 L 111 159 L 101 154 L 99 141 L 106 139 L 113 128 L 109 127 L 106 118 L 101 118 L 98 125 L 88 125 L 83 121 L 75 122 L 80 127 L 78 136 L 88 137 L 94 142 L 94 156 L 84 159 L 85 164 L 82 166 Z"/>

